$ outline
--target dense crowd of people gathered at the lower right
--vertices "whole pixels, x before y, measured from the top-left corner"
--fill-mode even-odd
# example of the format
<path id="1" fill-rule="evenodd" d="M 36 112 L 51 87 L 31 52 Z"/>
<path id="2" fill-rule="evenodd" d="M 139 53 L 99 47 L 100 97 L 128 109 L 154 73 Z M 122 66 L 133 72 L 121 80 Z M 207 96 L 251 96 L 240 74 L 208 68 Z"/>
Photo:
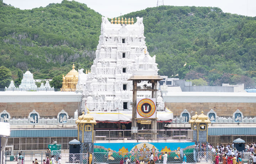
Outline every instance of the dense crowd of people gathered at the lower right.
<path id="1" fill-rule="evenodd" d="M 206 145 L 202 144 L 202 148 L 206 149 Z M 253 163 L 256 164 L 256 153 L 254 150 L 256 149 L 256 143 L 246 144 L 245 146 L 245 152 L 250 153 L 250 156 L 253 160 Z M 219 145 L 217 144 L 216 147 L 214 147 L 211 144 L 208 144 L 208 151 L 211 151 L 214 154 L 214 162 L 215 164 L 219 164 L 219 162 L 222 162 L 223 164 L 241 164 L 242 163 L 242 153 L 239 152 L 235 147 L 234 143 L 226 144 L 225 146 L 223 144 Z"/>

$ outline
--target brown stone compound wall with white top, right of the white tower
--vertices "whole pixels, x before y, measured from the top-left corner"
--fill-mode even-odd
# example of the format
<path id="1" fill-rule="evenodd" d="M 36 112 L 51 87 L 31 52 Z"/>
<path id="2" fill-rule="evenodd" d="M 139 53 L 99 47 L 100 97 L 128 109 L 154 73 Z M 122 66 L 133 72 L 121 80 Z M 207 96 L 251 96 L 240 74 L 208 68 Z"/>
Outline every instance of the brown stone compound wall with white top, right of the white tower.
<path id="1" fill-rule="evenodd" d="M 163 101 L 174 115 L 184 109 L 190 114 L 209 112 L 213 109 L 218 116 L 233 116 L 239 109 L 244 116 L 256 116 L 256 93 L 234 92 L 164 92 Z"/>

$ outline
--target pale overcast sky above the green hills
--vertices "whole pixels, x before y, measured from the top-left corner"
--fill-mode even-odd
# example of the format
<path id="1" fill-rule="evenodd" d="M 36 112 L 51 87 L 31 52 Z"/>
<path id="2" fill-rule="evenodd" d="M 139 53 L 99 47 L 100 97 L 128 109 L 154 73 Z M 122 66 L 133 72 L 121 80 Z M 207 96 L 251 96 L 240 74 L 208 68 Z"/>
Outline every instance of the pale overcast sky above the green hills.
<path id="1" fill-rule="evenodd" d="M 24 9 L 45 7 L 50 3 L 60 3 L 62 0 L 3 0 L 6 4 Z M 133 11 L 155 7 L 157 0 L 76 0 L 86 4 L 91 9 L 109 18 Z M 164 0 L 164 5 L 172 6 L 211 6 L 219 7 L 223 12 L 236 13 L 245 16 L 256 16 L 256 0 Z"/>

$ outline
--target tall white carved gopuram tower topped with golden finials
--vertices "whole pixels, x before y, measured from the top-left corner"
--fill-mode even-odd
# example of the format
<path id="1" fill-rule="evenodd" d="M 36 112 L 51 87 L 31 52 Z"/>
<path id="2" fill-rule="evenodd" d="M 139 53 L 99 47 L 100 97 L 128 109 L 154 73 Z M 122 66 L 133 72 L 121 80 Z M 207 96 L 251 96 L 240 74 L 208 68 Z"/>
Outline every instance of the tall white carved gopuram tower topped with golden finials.
<path id="1" fill-rule="evenodd" d="M 120 111 L 132 110 L 132 75 L 158 75 L 155 56 L 147 51 L 143 18 L 102 17 L 101 34 L 96 58 L 91 72 L 78 71 L 76 92 L 83 92 L 82 110 Z M 139 83 L 148 85 L 147 81 Z M 148 86 L 149 87 L 149 86 Z M 138 98 L 148 98 L 150 91 L 138 92 Z M 164 110 L 161 93 L 157 98 L 157 109 Z"/>

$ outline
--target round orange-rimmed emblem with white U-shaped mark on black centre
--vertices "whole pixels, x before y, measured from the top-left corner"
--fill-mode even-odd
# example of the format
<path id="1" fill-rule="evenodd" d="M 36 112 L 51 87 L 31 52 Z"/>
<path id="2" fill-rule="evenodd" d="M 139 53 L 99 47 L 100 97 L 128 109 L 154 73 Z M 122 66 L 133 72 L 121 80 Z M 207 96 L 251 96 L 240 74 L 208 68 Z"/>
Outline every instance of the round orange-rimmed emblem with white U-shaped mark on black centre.
<path id="1" fill-rule="evenodd" d="M 155 110 L 155 103 L 150 99 L 142 99 L 137 105 L 137 112 L 142 117 L 151 117 Z"/>

